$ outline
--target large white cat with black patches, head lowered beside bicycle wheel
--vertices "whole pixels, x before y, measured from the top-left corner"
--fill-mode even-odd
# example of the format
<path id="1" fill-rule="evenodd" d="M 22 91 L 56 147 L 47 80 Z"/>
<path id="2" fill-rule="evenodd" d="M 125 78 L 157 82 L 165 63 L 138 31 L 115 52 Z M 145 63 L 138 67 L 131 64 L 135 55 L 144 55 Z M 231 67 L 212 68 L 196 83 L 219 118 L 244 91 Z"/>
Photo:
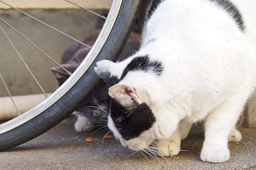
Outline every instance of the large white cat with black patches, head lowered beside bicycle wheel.
<path id="1" fill-rule="evenodd" d="M 153 0 L 151 10 L 139 51 L 95 68 L 111 82 L 108 127 L 125 147 L 172 156 L 205 120 L 201 160 L 227 161 L 256 86 L 256 1 Z"/>

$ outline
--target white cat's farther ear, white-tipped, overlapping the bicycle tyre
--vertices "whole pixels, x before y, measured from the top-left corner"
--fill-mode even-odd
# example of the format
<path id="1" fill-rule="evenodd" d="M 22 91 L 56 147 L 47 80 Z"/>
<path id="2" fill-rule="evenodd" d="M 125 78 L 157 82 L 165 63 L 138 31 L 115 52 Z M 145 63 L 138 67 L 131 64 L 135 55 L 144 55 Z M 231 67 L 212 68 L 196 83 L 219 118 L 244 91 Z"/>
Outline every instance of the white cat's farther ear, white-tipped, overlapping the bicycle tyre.
<path id="1" fill-rule="evenodd" d="M 114 62 L 109 60 L 102 60 L 96 63 L 94 68 L 96 74 L 107 84 L 110 85 L 111 82 L 111 68 L 115 65 Z"/>

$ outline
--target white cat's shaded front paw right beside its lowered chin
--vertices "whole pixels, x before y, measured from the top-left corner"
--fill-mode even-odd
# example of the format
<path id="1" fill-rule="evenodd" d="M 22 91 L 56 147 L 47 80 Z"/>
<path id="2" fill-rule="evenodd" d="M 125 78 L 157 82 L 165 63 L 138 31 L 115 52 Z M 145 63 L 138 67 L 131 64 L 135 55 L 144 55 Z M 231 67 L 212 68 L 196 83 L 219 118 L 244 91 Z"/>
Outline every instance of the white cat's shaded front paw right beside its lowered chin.
<path id="1" fill-rule="evenodd" d="M 175 156 L 180 152 L 180 145 L 176 142 L 165 140 L 154 142 L 153 147 L 157 147 L 160 156 Z"/>

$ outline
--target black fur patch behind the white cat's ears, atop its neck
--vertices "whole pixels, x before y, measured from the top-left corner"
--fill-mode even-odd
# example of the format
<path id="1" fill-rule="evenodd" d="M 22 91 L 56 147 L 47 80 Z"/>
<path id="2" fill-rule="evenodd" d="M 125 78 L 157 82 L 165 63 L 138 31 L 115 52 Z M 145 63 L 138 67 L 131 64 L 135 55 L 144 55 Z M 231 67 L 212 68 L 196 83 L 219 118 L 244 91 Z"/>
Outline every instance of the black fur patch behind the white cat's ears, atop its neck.
<path id="1" fill-rule="evenodd" d="M 129 71 L 152 71 L 157 74 L 157 76 L 160 76 L 163 72 L 163 66 L 160 62 L 150 61 L 148 56 L 135 57 L 125 67 L 120 80 L 122 80 Z"/>

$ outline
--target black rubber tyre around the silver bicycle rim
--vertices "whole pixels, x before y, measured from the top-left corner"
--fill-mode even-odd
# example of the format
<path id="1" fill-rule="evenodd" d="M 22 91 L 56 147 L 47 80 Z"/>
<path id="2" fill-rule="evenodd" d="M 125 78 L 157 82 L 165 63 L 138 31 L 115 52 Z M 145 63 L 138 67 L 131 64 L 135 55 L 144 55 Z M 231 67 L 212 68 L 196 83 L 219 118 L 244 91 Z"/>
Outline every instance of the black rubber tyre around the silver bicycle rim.
<path id="1" fill-rule="evenodd" d="M 47 110 L 6 133 L 0 135 L 0 150 L 23 144 L 51 129 L 67 118 L 99 85 L 101 79 L 94 67 L 102 59 L 116 61 L 131 33 L 141 0 L 123 0 L 115 25 L 93 65 L 61 99 Z"/>

